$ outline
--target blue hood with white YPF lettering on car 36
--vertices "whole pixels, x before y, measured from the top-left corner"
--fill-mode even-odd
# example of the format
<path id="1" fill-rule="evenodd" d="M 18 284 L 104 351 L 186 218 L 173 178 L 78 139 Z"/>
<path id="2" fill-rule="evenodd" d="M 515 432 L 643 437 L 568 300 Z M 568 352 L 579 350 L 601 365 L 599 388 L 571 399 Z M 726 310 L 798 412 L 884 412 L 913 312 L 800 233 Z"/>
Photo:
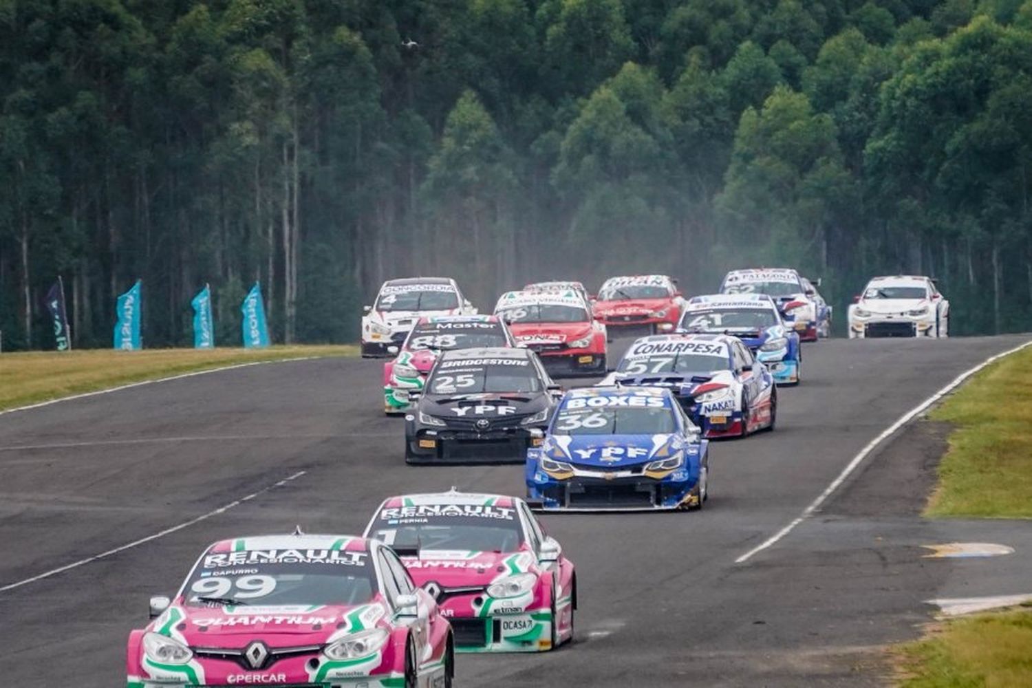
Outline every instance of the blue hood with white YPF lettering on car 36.
<path id="1" fill-rule="evenodd" d="M 582 466 L 620 468 L 654 458 L 666 458 L 672 446 L 680 449 L 677 434 L 551 435 L 546 456 Z M 674 449 L 674 451 L 676 451 Z"/>

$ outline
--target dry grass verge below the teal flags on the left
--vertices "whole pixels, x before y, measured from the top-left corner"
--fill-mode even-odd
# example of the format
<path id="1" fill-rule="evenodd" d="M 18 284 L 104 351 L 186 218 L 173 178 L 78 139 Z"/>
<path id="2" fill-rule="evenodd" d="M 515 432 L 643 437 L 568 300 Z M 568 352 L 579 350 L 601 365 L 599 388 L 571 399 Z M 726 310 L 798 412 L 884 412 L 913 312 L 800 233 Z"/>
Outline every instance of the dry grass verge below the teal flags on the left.
<path id="1" fill-rule="evenodd" d="M 357 354 L 358 348 L 354 346 L 0 354 L 0 411 L 226 365 Z"/>

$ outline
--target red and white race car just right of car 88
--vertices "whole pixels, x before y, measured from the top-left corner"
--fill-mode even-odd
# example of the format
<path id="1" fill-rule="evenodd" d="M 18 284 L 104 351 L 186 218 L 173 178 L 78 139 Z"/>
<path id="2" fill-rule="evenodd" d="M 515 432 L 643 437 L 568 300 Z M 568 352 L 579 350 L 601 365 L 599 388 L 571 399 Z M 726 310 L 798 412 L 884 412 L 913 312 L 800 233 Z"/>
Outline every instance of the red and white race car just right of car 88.
<path id="1" fill-rule="evenodd" d="M 506 292 L 494 314 L 516 341 L 541 356 L 549 374 L 596 375 L 606 371 L 606 326 L 574 290 Z"/>

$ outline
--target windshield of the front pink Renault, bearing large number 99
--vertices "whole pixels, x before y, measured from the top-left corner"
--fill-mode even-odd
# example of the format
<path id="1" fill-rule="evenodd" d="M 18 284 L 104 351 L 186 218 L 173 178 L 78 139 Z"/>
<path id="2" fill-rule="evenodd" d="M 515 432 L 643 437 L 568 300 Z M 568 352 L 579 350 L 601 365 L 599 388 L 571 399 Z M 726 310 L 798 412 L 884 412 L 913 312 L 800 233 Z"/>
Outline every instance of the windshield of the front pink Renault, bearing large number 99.
<path id="1" fill-rule="evenodd" d="M 269 549 L 209 553 L 183 588 L 189 605 L 364 604 L 377 591 L 367 552 Z"/>

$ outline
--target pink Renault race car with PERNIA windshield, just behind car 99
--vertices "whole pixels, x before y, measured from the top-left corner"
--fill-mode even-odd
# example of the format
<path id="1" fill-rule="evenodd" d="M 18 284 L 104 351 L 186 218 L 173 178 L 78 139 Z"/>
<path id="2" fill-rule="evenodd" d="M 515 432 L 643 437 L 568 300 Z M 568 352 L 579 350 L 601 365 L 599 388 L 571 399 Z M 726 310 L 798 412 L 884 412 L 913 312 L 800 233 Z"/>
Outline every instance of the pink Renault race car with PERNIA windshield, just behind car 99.
<path id="1" fill-rule="evenodd" d="M 573 640 L 574 564 L 522 499 L 454 489 L 391 497 L 365 535 L 401 555 L 451 622 L 458 652 L 542 652 Z"/>

